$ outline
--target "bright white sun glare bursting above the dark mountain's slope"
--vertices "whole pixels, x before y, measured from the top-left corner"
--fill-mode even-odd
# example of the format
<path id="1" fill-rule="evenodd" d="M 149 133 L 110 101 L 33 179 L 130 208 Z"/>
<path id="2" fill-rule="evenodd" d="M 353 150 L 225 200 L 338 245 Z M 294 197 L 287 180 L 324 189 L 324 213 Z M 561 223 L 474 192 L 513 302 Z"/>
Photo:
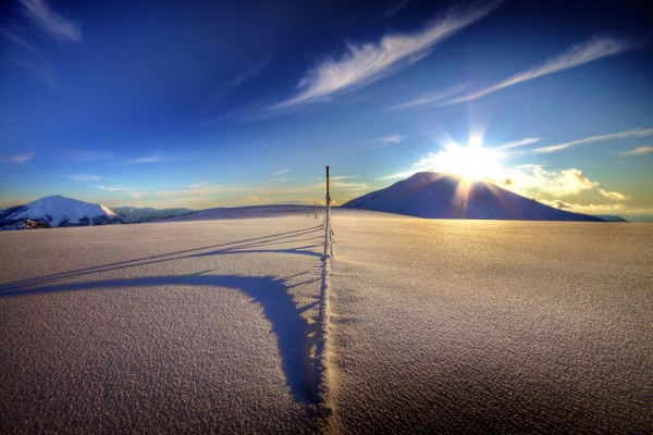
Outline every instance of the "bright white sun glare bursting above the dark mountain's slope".
<path id="1" fill-rule="evenodd" d="M 484 181 L 501 172 L 504 153 L 485 148 L 481 138 L 472 136 L 465 146 L 453 140 L 444 145 L 444 149 L 430 154 L 428 165 L 435 172 L 457 174 L 468 181 Z"/>

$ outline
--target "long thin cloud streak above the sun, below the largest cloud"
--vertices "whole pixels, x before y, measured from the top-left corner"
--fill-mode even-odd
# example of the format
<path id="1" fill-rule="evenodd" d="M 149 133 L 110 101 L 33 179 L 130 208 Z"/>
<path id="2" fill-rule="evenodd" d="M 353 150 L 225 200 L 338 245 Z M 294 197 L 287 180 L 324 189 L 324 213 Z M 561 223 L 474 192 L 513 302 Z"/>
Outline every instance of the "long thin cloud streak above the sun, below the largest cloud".
<path id="1" fill-rule="evenodd" d="M 452 105 L 476 100 L 489 94 L 496 92 L 497 90 L 502 90 L 523 82 L 529 82 L 549 74 L 554 74 L 560 71 L 584 65 L 586 63 L 593 62 L 599 59 L 623 53 L 634 47 L 634 44 L 626 39 L 619 39 L 609 36 L 594 37 L 588 41 L 571 47 L 555 58 L 549 59 L 542 65 L 517 73 L 505 80 L 497 83 L 496 85 L 475 90 L 458 97 L 453 97 L 451 94 L 447 95 L 447 89 L 444 89 L 442 91 L 427 95 L 416 100 L 399 104 L 396 107 L 396 109 Z"/>

